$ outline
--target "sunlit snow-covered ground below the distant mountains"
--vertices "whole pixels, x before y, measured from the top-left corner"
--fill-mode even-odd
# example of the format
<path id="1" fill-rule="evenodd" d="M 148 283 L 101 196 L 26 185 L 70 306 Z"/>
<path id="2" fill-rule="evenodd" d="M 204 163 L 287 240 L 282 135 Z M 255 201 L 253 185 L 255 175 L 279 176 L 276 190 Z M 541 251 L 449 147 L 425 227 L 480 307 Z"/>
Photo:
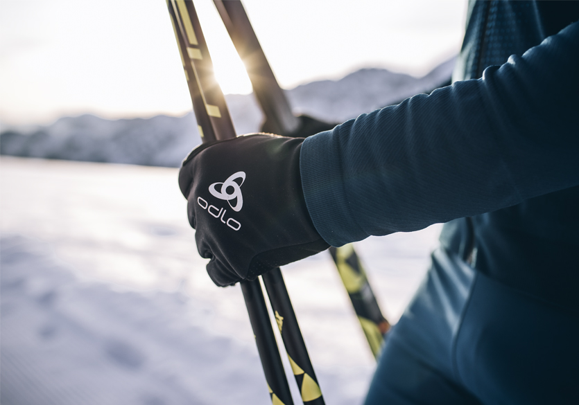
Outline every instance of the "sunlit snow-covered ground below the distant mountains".
<path id="1" fill-rule="evenodd" d="M 176 169 L 2 156 L 0 180 L 1 404 L 270 404 L 241 289 L 207 277 Z M 439 231 L 356 244 L 390 320 Z M 327 404 L 360 403 L 374 360 L 329 255 L 284 277 Z"/>

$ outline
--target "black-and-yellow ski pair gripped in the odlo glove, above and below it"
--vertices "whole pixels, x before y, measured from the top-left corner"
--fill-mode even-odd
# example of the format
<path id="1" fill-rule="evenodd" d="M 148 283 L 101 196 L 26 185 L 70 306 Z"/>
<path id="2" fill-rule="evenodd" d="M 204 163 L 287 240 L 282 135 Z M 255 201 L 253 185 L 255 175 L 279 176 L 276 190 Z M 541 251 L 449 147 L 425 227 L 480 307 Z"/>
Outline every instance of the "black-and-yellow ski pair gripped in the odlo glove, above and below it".
<path id="1" fill-rule="evenodd" d="M 167 0 L 167 6 L 203 142 L 234 138 L 233 123 L 221 88 L 214 78 L 211 57 L 192 1 Z M 291 367 L 302 399 L 305 404 L 323 405 L 322 393 L 282 272 L 277 268 L 261 278 L 266 285 L 278 328 L 280 332 L 284 331 L 282 339 L 288 356 L 291 356 Z M 271 400 L 275 405 L 293 404 L 259 278 L 241 282 L 241 289 Z"/>

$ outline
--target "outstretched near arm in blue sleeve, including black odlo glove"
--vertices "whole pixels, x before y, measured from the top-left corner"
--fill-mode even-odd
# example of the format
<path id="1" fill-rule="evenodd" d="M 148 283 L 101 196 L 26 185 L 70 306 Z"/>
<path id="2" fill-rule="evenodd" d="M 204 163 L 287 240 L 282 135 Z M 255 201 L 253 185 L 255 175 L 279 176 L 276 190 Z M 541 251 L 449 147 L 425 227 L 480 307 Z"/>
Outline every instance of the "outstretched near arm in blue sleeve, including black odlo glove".
<path id="1" fill-rule="evenodd" d="M 183 162 L 217 285 L 369 235 L 413 231 L 579 184 L 579 23 L 481 80 L 310 138 L 205 143 Z"/>

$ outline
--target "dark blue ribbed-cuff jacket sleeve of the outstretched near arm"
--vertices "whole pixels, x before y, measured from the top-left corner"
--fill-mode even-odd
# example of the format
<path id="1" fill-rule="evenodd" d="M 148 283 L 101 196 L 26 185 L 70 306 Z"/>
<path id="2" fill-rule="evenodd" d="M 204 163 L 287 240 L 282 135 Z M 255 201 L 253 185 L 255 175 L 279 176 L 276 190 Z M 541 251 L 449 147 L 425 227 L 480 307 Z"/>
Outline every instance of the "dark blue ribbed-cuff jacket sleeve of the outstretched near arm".
<path id="1" fill-rule="evenodd" d="M 579 185 L 579 22 L 478 80 L 304 141 L 300 172 L 333 246 L 513 206 Z"/>

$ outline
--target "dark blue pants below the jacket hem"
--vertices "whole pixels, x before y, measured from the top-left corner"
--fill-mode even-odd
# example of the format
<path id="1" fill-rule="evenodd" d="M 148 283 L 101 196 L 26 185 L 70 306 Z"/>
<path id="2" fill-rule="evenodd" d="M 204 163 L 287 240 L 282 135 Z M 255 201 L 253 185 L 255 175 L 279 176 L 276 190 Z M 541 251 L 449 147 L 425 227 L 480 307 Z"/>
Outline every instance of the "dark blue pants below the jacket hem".
<path id="1" fill-rule="evenodd" d="M 579 404 L 579 318 L 438 249 L 365 404 Z"/>

